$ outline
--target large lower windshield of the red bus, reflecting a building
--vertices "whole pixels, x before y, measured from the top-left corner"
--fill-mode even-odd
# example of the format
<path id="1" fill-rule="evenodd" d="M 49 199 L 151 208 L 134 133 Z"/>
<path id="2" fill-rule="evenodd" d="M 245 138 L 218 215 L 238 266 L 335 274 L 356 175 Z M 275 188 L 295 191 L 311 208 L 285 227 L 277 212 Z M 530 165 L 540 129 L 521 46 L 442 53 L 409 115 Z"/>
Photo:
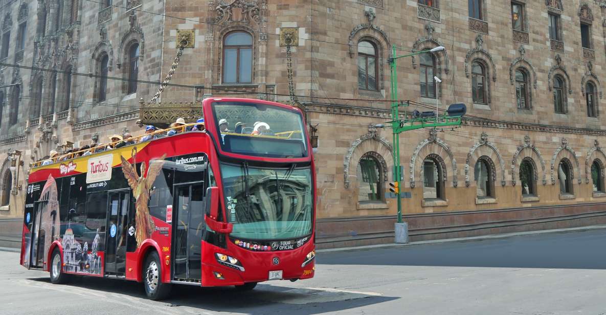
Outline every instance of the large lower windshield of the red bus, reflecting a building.
<path id="1" fill-rule="evenodd" d="M 288 170 L 221 165 L 234 237 L 289 239 L 311 234 L 311 168 Z"/>

